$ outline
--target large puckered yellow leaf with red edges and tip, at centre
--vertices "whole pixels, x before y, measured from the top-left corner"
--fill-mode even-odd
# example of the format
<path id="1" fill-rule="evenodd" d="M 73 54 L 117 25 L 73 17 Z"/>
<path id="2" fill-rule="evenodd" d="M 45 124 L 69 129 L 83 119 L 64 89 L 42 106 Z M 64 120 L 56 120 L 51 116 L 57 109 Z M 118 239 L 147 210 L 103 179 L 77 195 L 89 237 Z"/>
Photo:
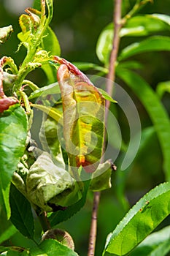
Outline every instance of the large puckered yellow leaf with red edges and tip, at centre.
<path id="1" fill-rule="evenodd" d="M 58 83 L 63 100 L 63 135 L 69 162 L 73 167 L 82 165 L 87 172 L 93 172 L 102 153 L 104 97 L 77 67 L 62 61 Z"/>

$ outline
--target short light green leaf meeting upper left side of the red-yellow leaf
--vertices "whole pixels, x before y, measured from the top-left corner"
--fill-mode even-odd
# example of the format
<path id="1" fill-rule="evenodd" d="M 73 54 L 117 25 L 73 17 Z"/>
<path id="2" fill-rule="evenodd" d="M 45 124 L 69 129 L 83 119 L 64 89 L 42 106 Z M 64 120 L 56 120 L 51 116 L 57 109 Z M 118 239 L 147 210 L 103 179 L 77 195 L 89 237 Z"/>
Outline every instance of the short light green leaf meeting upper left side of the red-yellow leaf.
<path id="1" fill-rule="evenodd" d="M 36 91 L 33 91 L 28 99 L 34 99 L 38 97 L 44 97 L 49 94 L 61 94 L 60 87 L 58 83 L 52 83 L 49 86 L 44 86 L 42 88 L 37 89 Z"/>

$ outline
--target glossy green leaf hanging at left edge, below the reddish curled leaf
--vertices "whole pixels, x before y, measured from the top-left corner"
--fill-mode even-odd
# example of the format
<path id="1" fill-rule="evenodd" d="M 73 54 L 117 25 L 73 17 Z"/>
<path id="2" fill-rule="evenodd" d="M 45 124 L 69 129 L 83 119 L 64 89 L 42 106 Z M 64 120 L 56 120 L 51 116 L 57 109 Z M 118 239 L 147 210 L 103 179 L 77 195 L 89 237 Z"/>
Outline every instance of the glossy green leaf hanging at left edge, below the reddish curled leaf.
<path id="1" fill-rule="evenodd" d="M 0 187 L 9 217 L 9 184 L 20 157 L 23 156 L 27 136 L 26 113 L 18 104 L 0 114 Z"/>

